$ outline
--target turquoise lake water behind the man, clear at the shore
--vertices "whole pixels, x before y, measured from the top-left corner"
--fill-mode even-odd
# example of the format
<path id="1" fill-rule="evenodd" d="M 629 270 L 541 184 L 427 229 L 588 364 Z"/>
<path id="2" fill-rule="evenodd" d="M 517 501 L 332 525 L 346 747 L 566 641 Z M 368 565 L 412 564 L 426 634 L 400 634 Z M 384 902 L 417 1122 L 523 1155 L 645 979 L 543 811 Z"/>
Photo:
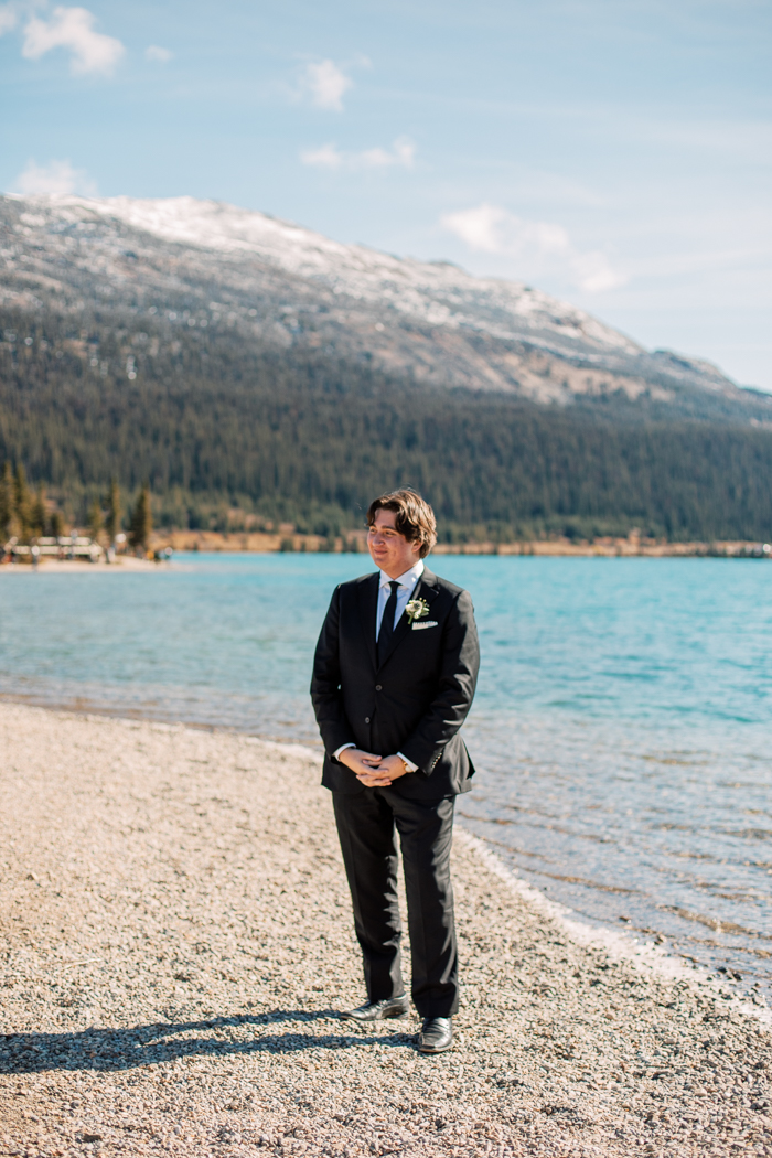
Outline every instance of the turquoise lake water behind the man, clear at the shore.
<path id="1" fill-rule="evenodd" d="M 772 979 L 772 566 L 442 557 L 473 596 L 469 829 L 584 919 Z M 336 582 L 366 556 L 0 573 L 0 694 L 318 743 Z M 23 571 L 23 573 L 22 573 Z M 620 918 L 626 918 L 622 922 Z"/>

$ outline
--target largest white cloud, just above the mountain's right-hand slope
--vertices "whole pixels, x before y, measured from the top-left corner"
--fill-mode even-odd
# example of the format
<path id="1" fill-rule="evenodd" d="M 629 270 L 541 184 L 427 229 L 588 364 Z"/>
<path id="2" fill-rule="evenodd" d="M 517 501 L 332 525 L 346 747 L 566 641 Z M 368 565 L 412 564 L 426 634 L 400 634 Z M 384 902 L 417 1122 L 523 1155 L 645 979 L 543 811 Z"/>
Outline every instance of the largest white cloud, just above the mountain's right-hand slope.
<path id="1" fill-rule="evenodd" d="M 514 258 L 529 277 L 557 273 L 589 293 L 613 290 L 625 281 L 601 250 L 576 249 L 561 225 L 525 221 L 499 205 L 484 201 L 475 208 L 446 213 L 440 225 L 471 250 Z"/>

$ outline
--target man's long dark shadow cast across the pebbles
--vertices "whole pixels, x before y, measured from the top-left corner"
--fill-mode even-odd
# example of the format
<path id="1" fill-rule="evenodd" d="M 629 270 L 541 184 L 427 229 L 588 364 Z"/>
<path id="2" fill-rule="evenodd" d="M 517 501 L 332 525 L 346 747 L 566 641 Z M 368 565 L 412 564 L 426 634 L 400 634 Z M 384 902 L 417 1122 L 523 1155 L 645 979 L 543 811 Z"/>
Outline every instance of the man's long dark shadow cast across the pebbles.
<path id="1" fill-rule="evenodd" d="M 295 1054 L 307 1049 L 352 1049 L 360 1046 L 413 1046 L 409 1033 L 362 1034 L 302 1032 L 269 1033 L 250 1040 L 219 1036 L 183 1036 L 184 1034 L 243 1026 L 270 1026 L 286 1021 L 308 1025 L 311 1021 L 341 1020 L 334 1010 L 315 1013 L 300 1010 L 275 1010 L 271 1013 L 212 1018 L 206 1021 L 157 1021 L 126 1029 L 89 1028 L 80 1033 L 15 1033 L 0 1040 L 0 1073 L 43 1073 L 49 1070 L 128 1070 L 138 1065 L 157 1065 L 177 1057 L 203 1057 L 229 1054 Z"/>

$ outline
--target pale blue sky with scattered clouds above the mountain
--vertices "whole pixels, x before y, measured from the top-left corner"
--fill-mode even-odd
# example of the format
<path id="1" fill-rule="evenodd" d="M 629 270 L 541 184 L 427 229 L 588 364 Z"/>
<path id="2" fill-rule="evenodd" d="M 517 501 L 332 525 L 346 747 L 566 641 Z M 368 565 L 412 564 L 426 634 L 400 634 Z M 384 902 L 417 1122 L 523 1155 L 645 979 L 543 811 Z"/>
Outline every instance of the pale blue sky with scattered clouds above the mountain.
<path id="1" fill-rule="evenodd" d="M 772 0 L 0 2 L 0 189 L 214 198 L 772 390 Z"/>

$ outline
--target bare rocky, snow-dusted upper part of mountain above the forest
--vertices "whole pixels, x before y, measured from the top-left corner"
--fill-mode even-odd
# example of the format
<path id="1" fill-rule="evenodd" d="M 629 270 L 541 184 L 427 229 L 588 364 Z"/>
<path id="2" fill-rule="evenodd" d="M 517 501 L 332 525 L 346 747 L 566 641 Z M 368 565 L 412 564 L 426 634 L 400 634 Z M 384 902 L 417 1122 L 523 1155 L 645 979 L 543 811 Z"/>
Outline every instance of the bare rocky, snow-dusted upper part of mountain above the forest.
<path id="1" fill-rule="evenodd" d="M 16 308 L 166 314 L 181 327 L 222 320 L 264 345 L 542 403 L 747 394 L 707 362 L 650 353 L 521 283 L 340 244 L 218 201 L 7 196 L 0 247 L 0 303 Z"/>

